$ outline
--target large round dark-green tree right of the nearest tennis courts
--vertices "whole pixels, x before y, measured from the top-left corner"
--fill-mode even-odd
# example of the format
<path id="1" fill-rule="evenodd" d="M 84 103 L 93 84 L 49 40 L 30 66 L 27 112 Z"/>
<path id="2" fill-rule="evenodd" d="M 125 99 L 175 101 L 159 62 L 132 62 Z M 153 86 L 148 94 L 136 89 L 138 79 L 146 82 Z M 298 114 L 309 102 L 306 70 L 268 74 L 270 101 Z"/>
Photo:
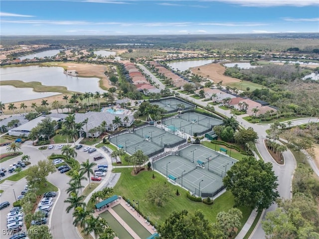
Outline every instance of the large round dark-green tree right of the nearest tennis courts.
<path id="1" fill-rule="evenodd" d="M 271 163 L 245 157 L 227 171 L 223 183 L 235 197 L 235 206 L 263 210 L 279 197 L 277 176 Z"/>

